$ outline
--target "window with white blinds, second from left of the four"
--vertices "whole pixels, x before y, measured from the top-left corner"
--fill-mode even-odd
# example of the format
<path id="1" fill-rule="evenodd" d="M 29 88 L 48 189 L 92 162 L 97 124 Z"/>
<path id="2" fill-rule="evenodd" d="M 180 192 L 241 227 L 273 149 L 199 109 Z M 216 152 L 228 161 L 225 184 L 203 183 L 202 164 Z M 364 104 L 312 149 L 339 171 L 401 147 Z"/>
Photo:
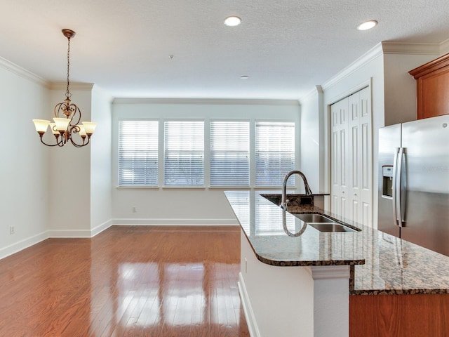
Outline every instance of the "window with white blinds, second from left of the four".
<path id="1" fill-rule="evenodd" d="M 164 181 L 167 186 L 204 185 L 204 122 L 165 122 Z"/>

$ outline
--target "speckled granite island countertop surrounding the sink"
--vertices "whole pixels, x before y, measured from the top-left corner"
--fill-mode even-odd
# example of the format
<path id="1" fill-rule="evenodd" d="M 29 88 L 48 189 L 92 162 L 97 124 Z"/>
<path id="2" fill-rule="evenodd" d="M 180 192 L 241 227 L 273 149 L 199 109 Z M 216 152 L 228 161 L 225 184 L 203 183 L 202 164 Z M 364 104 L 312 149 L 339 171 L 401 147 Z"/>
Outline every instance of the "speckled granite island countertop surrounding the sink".
<path id="1" fill-rule="evenodd" d="M 225 192 L 255 256 L 269 265 L 350 265 L 350 293 L 449 293 L 449 257 L 305 204 L 283 211 L 260 192 Z M 274 194 L 270 193 L 272 197 Z M 292 199 L 292 198 L 290 198 Z M 321 213 L 358 228 L 319 232 L 294 213 Z"/>

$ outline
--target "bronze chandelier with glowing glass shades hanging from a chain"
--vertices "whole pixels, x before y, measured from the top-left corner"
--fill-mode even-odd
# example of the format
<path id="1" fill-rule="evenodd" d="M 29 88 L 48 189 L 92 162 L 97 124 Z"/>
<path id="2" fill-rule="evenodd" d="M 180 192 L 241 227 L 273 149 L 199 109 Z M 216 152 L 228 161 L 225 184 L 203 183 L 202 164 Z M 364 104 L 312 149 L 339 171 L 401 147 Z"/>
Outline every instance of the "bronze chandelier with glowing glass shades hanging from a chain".
<path id="1" fill-rule="evenodd" d="M 33 119 L 34 126 L 36 127 L 37 133 L 39 133 L 39 137 L 41 138 L 41 143 L 47 146 L 64 146 L 69 142 L 72 143 L 76 147 L 83 147 L 88 145 L 91 140 L 91 136 L 93 131 L 95 131 L 96 123 L 92 121 L 83 121 L 82 124 L 79 124 L 81 121 L 81 110 L 76 104 L 72 103 L 70 97 L 72 94 L 69 91 L 69 70 L 70 70 L 70 39 L 75 36 L 75 32 L 70 29 L 62 29 L 62 34 L 67 37 L 67 90 L 65 91 L 65 100 L 62 103 L 58 103 L 55 105 L 55 117 L 53 118 L 54 123 L 47 121 L 45 119 Z M 65 115 L 65 117 L 62 117 Z M 53 136 L 55 136 L 55 143 L 47 144 L 43 140 L 43 135 L 46 133 L 48 126 L 50 126 L 51 132 Z M 74 139 L 74 135 L 78 135 L 81 137 L 81 140 L 78 136 L 77 143 Z M 86 140 L 87 138 L 87 140 Z"/>

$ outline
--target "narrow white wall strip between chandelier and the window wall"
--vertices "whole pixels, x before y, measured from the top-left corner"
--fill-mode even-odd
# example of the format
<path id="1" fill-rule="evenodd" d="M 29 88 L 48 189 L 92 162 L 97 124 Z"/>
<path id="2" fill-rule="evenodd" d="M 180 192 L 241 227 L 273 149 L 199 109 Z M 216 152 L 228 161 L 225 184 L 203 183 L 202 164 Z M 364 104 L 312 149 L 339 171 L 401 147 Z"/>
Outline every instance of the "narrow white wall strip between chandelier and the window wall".
<path id="1" fill-rule="evenodd" d="M 112 224 L 112 98 L 98 86 L 92 90 L 92 120 L 97 128 L 91 147 L 91 234 Z"/>

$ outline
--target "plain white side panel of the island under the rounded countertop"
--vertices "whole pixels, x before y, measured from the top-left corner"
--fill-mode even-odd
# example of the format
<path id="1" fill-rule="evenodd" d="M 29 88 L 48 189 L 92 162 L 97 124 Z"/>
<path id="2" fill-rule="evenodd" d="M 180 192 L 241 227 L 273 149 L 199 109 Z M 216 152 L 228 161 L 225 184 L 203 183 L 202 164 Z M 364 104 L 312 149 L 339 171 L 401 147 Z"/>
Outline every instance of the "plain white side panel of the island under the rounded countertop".
<path id="1" fill-rule="evenodd" d="M 251 336 L 314 336 L 310 268 L 260 262 L 243 232 L 239 289 Z"/>

